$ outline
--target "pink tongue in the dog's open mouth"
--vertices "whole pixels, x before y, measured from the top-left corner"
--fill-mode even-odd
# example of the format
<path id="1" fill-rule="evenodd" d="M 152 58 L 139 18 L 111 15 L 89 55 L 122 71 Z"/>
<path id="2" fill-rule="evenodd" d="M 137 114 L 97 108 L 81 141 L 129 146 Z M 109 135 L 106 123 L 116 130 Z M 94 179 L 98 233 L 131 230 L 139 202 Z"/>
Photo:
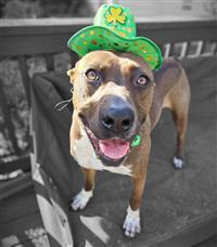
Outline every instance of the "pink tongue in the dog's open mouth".
<path id="1" fill-rule="evenodd" d="M 101 152 L 112 159 L 124 157 L 129 150 L 129 143 L 119 139 L 100 140 L 99 145 Z"/>

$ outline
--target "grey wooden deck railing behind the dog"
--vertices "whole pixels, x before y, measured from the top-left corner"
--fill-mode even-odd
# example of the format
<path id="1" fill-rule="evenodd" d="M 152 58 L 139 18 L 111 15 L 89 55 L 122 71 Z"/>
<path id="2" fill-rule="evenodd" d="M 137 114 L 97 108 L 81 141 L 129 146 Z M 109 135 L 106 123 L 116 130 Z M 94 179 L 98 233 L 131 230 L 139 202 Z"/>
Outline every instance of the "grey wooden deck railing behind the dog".
<path id="1" fill-rule="evenodd" d="M 28 106 L 30 106 L 30 77 L 27 58 L 41 55 L 44 57 L 47 70 L 54 70 L 54 54 L 68 52 L 73 65 L 77 56 L 69 52 L 66 42 L 72 34 L 87 25 L 89 18 L 44 18 L 44 20 L 1 20 L 0 21 L 0 61 L 16 60 L 23 79 Z M 137 20 L 138 36 L 153 39 L 162 48 L 165 57 L 216 55 L 217 21 L 215 20 Z M 193 53 L 192 53 L 193 51 Z M 10 107 L 2 88 L 0 76 L 0 107 L 4 125 L 10 133 L 14 153 L 20 155 Z M 0 131 L 2 131 L 0 129 Z M 1 160 L 1 156 L 0 156 Z M 28 156 L 10 162 L 0 161 L 0 173 L 17 168 L 29 169 Z"/>

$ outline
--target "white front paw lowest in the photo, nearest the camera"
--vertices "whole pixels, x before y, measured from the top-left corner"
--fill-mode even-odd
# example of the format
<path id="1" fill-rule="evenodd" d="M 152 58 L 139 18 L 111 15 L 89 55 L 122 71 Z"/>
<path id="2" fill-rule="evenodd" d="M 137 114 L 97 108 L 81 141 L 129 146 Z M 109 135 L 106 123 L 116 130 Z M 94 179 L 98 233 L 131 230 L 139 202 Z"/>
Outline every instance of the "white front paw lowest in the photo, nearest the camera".
<path id="1" fill-rule="evenodd" d="M 132 210 L 128 207 L 123 229 L 128 237 L 136 237 L 141 232 L 139 209 Z"/>

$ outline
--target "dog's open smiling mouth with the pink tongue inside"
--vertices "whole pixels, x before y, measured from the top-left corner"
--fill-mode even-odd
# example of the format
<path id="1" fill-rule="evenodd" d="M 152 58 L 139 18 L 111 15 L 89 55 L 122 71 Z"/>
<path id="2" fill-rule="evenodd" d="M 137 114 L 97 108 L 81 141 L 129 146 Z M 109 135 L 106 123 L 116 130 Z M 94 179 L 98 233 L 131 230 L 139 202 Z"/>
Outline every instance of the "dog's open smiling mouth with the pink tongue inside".
<path id="1" fill-rule="evenodd" d="M 116 167 L 122 164 L 130 148 L 129 142 L 118 138 L 100 140 L 87 126 L 85 126 L 85 130 L 95 155 L 104 165 Z"/>

